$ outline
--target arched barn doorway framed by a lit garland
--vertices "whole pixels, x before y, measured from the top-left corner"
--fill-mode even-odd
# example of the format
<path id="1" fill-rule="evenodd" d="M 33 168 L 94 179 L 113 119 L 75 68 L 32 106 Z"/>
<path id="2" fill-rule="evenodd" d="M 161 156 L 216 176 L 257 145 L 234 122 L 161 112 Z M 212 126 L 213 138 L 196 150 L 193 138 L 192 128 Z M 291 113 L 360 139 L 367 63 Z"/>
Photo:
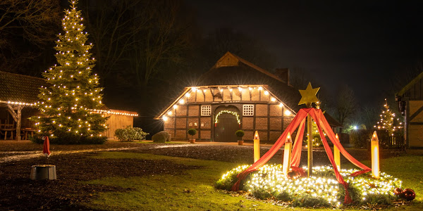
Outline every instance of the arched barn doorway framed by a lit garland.
<path id="1" fill-rule="evenodd" d="M 214 111 L 214 141 L 237 141 L 235 132 L 240 129 L 239 110 L 235 106 L 219 106 Z"/>

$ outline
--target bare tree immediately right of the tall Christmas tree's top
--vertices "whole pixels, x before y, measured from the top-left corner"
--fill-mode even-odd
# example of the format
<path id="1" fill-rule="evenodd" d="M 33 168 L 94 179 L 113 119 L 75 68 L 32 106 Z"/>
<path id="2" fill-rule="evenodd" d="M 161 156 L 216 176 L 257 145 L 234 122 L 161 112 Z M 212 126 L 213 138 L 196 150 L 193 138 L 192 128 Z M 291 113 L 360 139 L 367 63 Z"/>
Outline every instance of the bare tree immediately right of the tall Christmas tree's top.
<path id="1" fill-rule="evenodd" d="M 145 30 L 149 21 L 142 0 L 97 1 L 90 6 L 85 2 L 85 16 L 94 42 L 97 71 L 103 78 L 123 71 L 128 63 L 128 51 L 135 44 L 135 36 Z M 136 25 L 134 23 L 137 23 Z M 126 55 L 125 55 L 126 54 Z"/>

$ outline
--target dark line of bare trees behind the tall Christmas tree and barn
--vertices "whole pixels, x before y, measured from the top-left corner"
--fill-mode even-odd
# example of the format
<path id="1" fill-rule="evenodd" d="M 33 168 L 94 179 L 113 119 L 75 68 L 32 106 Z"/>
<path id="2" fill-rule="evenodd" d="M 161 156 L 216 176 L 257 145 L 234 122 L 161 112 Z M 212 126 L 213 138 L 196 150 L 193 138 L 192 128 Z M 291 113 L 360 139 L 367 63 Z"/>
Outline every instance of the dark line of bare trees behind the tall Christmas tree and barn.
<path id="1" fill-rule="evenodd" d="M 0 3 L 0 70 L 40 76 L 54 65 L 54 40 L 66 1 L 5 0 Z M 135 124 L 158 127 L 151 120 L 178 90 L 197 85 L 226 51 L 261 67 L 276 59 L 254 38 L 223 28 L 204 35 L 195 11 L 183 1 L 80 0 L 90 34 L 94 67 L 110 108 L 135 110 Z"/>

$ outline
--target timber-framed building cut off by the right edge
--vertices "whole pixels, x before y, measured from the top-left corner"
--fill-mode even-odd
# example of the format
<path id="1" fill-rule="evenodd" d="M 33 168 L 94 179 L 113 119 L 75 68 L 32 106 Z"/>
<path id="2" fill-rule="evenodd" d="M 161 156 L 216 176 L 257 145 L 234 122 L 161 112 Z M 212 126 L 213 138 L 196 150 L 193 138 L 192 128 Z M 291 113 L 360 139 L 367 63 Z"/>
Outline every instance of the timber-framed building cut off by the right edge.
<path id="1" fill-rule="evenodd" d="M 407 148 L 423 147 L 423 72 L 396 94 Z"/>

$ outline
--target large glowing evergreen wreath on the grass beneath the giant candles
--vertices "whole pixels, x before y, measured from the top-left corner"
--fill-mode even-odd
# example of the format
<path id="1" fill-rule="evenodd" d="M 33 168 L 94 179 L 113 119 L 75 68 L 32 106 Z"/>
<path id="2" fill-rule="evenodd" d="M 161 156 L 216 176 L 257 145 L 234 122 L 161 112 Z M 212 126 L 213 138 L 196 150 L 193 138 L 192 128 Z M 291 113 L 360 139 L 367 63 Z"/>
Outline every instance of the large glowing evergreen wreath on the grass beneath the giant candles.
<path id="1" fill-rule="evenodd" d="M 216 182 L 216 188 L 231 191 L 231 187 L 238 180 L 237 175 L 246 170 L 250 165 L 243 165 L 223 174 Z M 307 171 L 303 167 L 300 171 Z M 371 172 L 350 177 L 357 170 L 340 170 L 339 172 L 348 183 L 348 191 L 353 200 L 353 205 L 378 204 L 388 205 L 393 200 L 403 198 L 405 195 L 397 193 L 402 191 L 402 181 L 381 172 L 379 179 L 374 179 Z M 247 176 L 240 190 L 247 191 L 255 198 L 274 198 L 293 206 L 299 207 L 339 207 L 342 205 L 345 191 L 342 184 L 336 181 L 331 166 L 313 167 L 312 177 L 288 178 L 282 173 L 282 165 L 264 165 L 257 172 Z M 414 193 L 414 191 L 413 191 Z M 412 195 L 411 191 L 410 194 Z M 410 195 L 409 194 L 409 195 Z M 414 195 L 415 196 L 415 195 Z"/>

